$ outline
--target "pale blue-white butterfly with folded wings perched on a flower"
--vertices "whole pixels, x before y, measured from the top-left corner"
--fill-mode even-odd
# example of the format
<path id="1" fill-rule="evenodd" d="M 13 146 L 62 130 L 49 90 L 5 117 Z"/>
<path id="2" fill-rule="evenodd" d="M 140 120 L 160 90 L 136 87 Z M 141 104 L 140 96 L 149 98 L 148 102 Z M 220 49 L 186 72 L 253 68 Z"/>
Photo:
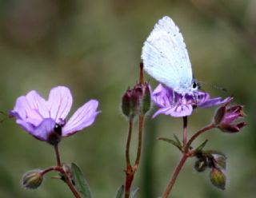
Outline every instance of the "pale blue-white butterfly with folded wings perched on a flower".
<path id="1" fill-rule="evenodd" d="M 144 69 L 176 93 L 194 95 L 198 83 L 193 77 L 186 44 L 174 21 L 165 16 L 142 47 Z"/>

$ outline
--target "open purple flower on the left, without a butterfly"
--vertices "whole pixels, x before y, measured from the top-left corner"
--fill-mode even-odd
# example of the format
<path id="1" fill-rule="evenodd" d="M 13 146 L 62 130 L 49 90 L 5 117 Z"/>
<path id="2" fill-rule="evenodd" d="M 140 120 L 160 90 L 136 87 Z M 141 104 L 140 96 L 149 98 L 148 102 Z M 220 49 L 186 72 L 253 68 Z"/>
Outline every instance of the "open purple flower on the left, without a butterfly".
<path id="1" fill-rule="evenodd" d="M 61 137 L 68 137 L 93 124 L 98 115 L 98 101 L 90 100 L 82 105 L 70 120 L 66 116 L 72 105 L 70 89 L 64 86 L 50 90 L 48 101 L 36 91 L 18 97 L 10 115 L 15 117 L 17 124 L 40 141 L 54 145 Z M 58 141 L 54 140 L 55 137 Z"/>

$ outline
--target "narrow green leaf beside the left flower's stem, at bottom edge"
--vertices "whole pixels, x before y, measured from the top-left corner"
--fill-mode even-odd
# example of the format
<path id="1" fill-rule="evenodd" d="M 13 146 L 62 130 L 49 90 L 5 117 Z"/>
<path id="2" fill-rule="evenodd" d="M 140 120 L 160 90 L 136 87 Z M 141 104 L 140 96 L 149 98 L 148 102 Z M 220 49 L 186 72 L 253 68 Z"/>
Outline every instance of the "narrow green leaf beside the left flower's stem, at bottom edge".
<path id="1" fill-rule="evenodd" d="M 71 163 L 71 174 L 74 180 L 74 187 L 78 192 L 85 198 L 91 198 L 89 184 L 77 164 Z"/>

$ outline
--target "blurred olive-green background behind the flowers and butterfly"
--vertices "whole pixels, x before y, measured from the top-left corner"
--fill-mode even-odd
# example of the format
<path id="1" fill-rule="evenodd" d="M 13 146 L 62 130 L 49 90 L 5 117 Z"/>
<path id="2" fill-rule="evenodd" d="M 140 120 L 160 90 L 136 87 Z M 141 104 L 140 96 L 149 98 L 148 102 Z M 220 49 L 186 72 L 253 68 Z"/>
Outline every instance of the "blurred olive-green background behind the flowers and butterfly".
<path id="1" fill-rule="evenodd" d="M 209 172 L 195 172 L 191 159 L 172 197 L 255 197 L 255 10 L 254 0 L 1 0 L 0 109 L 9 111 L 16 98 L 31 89 L 47 97 L 56 85 L 66 85 L 73 93 L 70 115 L 90 98 L 98 99 L 102 113 L 94 125 L 64 139 L 60 149 L 62 161 L 82 168 L 94 197 L 114 197 L 125 175 L 127 122 L 120 112 L 121 97 L 138 80 L 142 43 L 158 19 L 169 15 L 185 38 L 195 77 L 229 92 L 203 89 L 215 97 L 234 96 L 234 103 L 245 105 L 249 123 L 241 133 L 213 130 L 200 139 L 210 139 L 206 148 L 228 156 L 224 192 L 211 186 Z M 150 82 L 157 85 L 153 79 Z M 151 114 L 134 180 L 134 187 L 140 188 L 138 197 L 147 198 L 162 195 L 181 156 L 176 148 L 155 139 L 180 135 L 182 119 L 151 120 Z M 214 109 L 194 111 L 189 133 L 208 124 L 213 114 Z M 54 174 L 38 190 L 23 189 L 22 174 L 54 165 L 54 150 L 23 132 L 14 120 L 3 122 L 0 130 L 1 197 L 72 197 L 65 184 L 50 179 Z M 134 137 L 133 156 L 136 144 Z"/>

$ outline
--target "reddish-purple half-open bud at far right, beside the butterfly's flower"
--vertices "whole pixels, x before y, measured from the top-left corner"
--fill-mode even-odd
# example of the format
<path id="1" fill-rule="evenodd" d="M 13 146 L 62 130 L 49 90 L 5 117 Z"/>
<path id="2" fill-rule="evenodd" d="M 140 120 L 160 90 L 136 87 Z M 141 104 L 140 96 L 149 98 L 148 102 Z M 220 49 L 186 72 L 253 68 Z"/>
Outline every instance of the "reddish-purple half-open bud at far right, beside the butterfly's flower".
<path id="1" fill-rule="evenodd" d="M 230 99 L 232 101 L 232 98 Z M 225 105 L 219 107 L 214 116 L 214 124 L 222 132 L 236 133 L 246 125 L 245 122 L 238 122 L 239 118 L 245 116 L 243 113 L 242 105 L 228 106 L 230 101 L 227 101 Z"/>

